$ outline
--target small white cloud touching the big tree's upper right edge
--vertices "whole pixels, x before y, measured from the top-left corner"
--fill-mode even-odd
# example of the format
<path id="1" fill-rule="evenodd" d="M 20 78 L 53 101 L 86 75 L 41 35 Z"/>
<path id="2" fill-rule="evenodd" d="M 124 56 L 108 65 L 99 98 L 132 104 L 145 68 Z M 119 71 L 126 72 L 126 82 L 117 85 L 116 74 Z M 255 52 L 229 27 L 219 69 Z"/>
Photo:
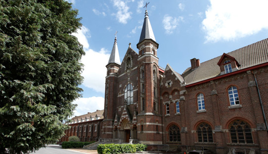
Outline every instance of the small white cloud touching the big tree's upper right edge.
<path id="1" fill-rule="evenodd" d="M 87 37 L 90 37 L 89 29 L 87 29 L 85 26 L 82 26 L 80 29 L 77 29 L 76 33 L 72 33 L 72 35 L 77 37 L 84 49 L 89 48 L 89 44 L 87 42 Z"/>

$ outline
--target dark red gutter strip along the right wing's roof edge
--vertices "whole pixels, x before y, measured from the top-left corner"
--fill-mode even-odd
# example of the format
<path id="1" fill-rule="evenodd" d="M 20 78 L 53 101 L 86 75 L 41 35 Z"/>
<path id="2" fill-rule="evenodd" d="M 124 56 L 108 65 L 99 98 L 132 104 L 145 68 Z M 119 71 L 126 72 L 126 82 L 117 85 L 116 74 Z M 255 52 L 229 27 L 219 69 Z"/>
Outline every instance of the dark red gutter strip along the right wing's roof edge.
<path id="1" fill-rule="evenodd" d="M 232 73 L 228 73 L 228 74 L 225 74 L 225 75 L 222 75 L 222 76 L 217 76 L 217 77 L 212 77 L 212 78 L 209 78 L 209 79 L 205 79 L 205 80 L 202 80 L 200 82 L 196 82 L 196 83 L 192 83 L 192 84 L 186 85 L 185 87 L 195 86 L 195 85 L 198 85 L 198 84 L 201 84 L 201 83 L 205 83 L 205 82 L 208 82 L 208 81 L 211 81 L 211 80 L 215 80 L 215 79 L 219 79 L 219 78 L 223 78 L 223 77 L 228 77 L 228 76 L 236 75 L 236 74 L 239 74 L 239 73 L 242 73 L 242 72 L 247 72 L 247 71 L 250 71 L 250 70 L 253 70 L 253 69 L 258 69 L 258 68 L 265 67 L 265 66 L 268 66 L 268 62 L 267 63 L 264 63 L 264 64 L 256 65 L 256 66 L 253 66 L 253 67 L 250 67 L 250 68 L 246 68 L 246 69 L 243 69 L 243 70 L 239 70 L 239 71 L 235 71 L 235 72 L 232 72 Z"/>

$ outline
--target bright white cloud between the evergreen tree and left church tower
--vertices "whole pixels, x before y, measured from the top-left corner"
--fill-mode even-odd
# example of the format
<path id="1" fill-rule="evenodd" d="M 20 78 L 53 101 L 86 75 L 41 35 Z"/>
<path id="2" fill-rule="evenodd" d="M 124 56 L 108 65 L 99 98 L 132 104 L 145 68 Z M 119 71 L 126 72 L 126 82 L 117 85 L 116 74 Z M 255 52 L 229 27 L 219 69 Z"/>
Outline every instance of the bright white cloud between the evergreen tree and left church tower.
<path id="1" fill-rule="evenodd" d="M 85 51 L 85 56 L 82 57 L 81 63 L 84 64 L 82 76 L 84 77 L 83 85 L 94 89 L 97 92 L 105 90 L 105 76 L 110 54 L 104 48 L 99 52 L 92 49 Z"/>

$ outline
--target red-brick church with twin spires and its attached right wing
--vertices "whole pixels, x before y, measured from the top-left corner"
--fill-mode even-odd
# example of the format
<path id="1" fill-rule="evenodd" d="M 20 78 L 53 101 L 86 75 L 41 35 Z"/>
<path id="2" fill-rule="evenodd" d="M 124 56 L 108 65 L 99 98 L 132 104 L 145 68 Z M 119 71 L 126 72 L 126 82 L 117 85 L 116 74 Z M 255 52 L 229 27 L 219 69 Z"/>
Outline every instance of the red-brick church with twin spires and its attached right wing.
<path id="1" fill-rule="evenodd" d="M 122 63 L 115 38 L 100 138 L 268 153 L 268 39 L 206 62 L 194 58 L 181 75 L 158 65 L 158 45 L 147 10 L 138 52 L 129 45 Z"/>

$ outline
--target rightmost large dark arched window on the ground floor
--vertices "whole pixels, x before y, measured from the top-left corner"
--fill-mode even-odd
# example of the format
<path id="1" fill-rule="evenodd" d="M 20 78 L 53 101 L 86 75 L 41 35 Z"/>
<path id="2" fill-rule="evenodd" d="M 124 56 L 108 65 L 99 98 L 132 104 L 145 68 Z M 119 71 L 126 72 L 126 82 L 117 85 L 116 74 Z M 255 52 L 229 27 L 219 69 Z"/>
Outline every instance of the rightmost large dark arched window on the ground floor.
<path id="1" fill-rule="evenodd" d="M 251 128 L 245 121 L 233 121 L 229 130 L 232 143 L 253 143 Z"/>

